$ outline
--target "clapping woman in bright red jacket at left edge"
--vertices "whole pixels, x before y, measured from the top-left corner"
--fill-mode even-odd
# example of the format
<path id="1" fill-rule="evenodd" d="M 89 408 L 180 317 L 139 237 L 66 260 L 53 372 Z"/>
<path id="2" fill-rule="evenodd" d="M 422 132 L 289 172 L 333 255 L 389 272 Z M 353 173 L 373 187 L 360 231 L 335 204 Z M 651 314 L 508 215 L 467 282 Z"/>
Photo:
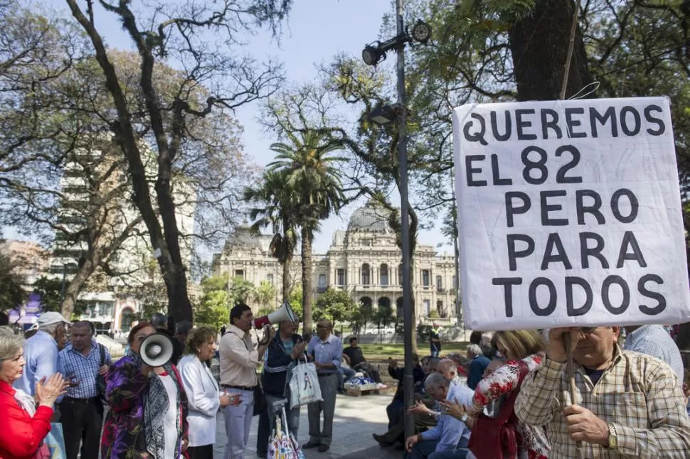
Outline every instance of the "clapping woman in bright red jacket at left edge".
<path id="1" fill-rule="evenodd" d="M 55 373 L 36 383 L 33 397 L 12 387 L 24 367 L 23 338 L 9 327 L 0 327 L 0 459 L 50 458 L 43 445 L 51 430 L 53 403 L 64 394 L 69 382 Z"/>

